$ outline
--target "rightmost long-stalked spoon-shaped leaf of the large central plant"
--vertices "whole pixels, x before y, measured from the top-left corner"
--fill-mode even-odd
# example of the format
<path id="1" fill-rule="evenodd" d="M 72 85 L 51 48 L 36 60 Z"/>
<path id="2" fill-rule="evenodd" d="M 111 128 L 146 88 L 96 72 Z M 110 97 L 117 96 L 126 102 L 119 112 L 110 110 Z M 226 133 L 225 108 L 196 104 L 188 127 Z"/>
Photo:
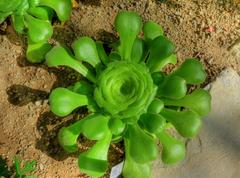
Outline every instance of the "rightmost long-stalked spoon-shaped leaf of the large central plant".
<path id="1" fill-rule="evenodd" d="M 211 95 L 203 89 L 197 89 L 179 100 L 166 98 L 162 100 L 167 106 L 183 106 L 195 111 L 200 116 L 206 116 L 211 110 Z"/>

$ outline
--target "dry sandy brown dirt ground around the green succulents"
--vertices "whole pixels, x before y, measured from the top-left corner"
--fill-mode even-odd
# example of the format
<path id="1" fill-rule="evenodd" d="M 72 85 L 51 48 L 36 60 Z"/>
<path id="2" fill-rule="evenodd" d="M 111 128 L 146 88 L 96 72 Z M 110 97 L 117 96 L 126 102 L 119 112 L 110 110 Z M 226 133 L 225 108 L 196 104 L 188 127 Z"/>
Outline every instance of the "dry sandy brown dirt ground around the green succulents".
<path id="1" fill-rule="evenodd" d="M 55 23 L 53 40 L 70 45 L 79 36 L 110 42 L 116 38 L 113 22 L 118 11 L 137 11 L 144 21 L 163 26 L 175 42 L 179 62 L 199 58 L 207 67 L 208 81 L 225 67 L 240 72 L 239 0 L 81 0 L 71 20 Z M 79 78 L 71 70 L 48 69 L 25 60 L 23 37 L 7 21 L 0 28 L 0 155 L 9 166 L 15 155 L 38 162 L 35 175 L 41 178 L 86 177 L 76 166 L 76 155 L 59 147 L 59 128 L 81 117 L 84 109 L 67 118 L 49 112 L 48 95 L 57 86 Z M 81 138 L 81 150 L 90 143 Z M 121 145 L 112 145 L 111 165 L 122 160 Z M 105 177 L 108 177 L 107 175 Z"/>

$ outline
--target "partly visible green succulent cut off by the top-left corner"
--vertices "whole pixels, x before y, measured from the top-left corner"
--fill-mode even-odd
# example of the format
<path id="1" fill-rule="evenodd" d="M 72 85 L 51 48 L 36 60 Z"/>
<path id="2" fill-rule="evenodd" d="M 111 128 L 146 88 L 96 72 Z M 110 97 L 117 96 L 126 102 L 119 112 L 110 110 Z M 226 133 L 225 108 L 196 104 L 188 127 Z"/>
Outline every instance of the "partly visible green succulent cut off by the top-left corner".
<path id="1" fill-rule="evenodd" d="M 27 34 L 27 59 L 39 63 L 52 48 L 48 40 L 53 34 L 52 18 L 56 14 L 61 22 L 69 19 L 71 0 L 0 0 L 0 23 L 11 16 L 13 28 Z"/>

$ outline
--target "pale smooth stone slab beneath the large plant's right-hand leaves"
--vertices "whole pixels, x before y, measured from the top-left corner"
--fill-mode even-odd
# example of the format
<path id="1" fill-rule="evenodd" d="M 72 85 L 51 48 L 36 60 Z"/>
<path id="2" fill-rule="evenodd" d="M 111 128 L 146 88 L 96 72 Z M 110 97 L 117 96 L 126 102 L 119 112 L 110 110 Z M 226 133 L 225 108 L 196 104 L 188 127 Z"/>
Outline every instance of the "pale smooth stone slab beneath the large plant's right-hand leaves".
<path id="1" fill-rule="evenodd" d="M 153 165 L 152 178 L 240 178 L 240 77 L 224 70 L 210 85 L 212 111 L 178 165 Z"/>

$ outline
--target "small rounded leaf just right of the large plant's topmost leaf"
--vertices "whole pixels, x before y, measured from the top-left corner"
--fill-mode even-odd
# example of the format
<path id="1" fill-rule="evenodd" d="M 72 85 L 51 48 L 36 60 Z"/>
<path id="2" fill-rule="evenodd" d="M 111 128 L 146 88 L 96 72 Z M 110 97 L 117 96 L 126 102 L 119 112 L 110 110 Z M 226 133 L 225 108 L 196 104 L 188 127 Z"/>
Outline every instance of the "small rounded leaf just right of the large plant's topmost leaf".
<path id="1" fill-rule="evenodd" d="M 150 44 L 158 36 L 163 36 L 163 29 L 160 25 L 153 21 L 148 21 L 143 24 L 144 40 Z"/>

